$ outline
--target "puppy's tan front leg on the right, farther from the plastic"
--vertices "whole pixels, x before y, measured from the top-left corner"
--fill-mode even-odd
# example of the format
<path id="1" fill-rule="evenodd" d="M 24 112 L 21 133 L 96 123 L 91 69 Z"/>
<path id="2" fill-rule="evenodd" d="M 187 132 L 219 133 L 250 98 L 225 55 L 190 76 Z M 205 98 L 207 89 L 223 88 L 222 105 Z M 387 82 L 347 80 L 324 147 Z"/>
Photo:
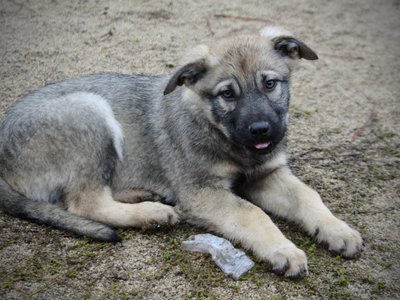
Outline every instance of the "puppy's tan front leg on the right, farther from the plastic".
<path id="1" fill-rule="evenodd" d="M 301 225 L 329 250 L 352 258 L 360 254 L 360 234 L 336 218 L 322 203 L 319 194 L 294 176 L 287 166 L 275 170 L 251 185 L 248 197 L 254 204 L 277 216 Z"/>

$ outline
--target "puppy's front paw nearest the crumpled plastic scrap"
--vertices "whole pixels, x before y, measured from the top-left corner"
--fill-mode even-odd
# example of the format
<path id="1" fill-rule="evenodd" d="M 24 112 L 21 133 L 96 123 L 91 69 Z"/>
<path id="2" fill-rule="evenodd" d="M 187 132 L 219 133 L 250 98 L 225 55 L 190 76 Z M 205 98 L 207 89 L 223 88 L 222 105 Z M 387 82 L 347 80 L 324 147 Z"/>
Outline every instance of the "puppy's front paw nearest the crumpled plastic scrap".
<path id="1" fill-rule="evenodd" d="M 272 251 L 267 260 L 272 264 L 272 270 L 279 275 L 292 279 L 308 275 L 306 254 L 293 244 Z"/>

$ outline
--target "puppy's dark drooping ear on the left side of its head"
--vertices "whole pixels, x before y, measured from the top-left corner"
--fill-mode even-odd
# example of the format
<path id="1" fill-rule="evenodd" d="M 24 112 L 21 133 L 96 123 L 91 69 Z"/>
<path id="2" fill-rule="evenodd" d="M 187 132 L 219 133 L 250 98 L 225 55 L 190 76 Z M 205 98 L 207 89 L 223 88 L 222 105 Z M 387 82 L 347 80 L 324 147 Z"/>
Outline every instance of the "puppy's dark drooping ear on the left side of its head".
<path id="1" fill-rule="evenodd" d="M 172 75 L 164 90 L 164 95 L 167 95 L 175 90 L 178 85 L 193 85 L 206 72 L 206 64 L 204 59 L 197 60 L 185 64 L 180 67 L 174 75 Z"/>

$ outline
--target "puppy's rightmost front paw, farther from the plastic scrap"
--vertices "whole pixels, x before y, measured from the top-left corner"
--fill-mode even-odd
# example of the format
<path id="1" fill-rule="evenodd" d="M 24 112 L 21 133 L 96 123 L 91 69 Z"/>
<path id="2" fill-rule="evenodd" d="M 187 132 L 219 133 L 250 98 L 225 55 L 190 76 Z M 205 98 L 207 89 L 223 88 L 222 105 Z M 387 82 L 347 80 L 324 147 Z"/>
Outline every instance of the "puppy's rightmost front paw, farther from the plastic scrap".
<path id="1" fill-rule="evenodd" d="M 318 242 L 326 243 L 330 251 L 345 258 L 360 256 L 364 247 L 360 233 L 339 219 L 320 226 L 315 235 Z"/>

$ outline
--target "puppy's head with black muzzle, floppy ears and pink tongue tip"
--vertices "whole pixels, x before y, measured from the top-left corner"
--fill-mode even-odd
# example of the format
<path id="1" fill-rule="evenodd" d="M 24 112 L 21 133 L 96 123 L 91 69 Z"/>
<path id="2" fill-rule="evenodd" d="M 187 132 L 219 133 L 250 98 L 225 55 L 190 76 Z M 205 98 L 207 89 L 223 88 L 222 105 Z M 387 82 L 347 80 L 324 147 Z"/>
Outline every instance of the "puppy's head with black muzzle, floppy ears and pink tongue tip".
<path id="1" fill-rule="evenodd" d="M 266 27 L 258 35 L 194 48 L 164 94 L 184 86 L 183 101 L 227 139 L 254 153 L 269 153 L 286 133 L 289 79 L 300 58 L 318 57 L 289 32 Z"/>

